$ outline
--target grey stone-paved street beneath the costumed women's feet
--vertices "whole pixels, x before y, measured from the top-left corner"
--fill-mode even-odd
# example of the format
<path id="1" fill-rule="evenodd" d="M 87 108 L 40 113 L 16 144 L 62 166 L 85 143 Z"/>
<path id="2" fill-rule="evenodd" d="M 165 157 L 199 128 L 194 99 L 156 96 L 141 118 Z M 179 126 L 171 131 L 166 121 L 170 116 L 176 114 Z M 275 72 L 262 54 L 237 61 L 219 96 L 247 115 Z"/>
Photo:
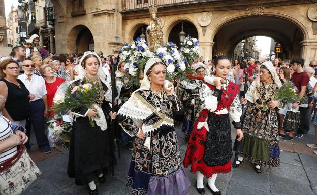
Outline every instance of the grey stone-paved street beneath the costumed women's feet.
<path id="1" fill-rule="evenodd" d="M 186 143 L 182 132 L 179 131 L 179 124 L 177 129 L 178 141 L 183 156 Z M 303 138 L 294 138 L 293 142 L 280 141 L 281 164 L 279 167 L 265 167 L 261 174 L 257 174 L 250 163 L 243 162 L 240 167 L 233 169 L 231 173 L 218 175 L 216 180 L 218 189 L 222 194 L 227 195 L 317 194 L 317 157 L 313 153 L 313 149 L 306 146 L 306 143 L 313 140 L 313 130 L 314 127 L 311 125 L 309 133 L 304 135 Z M 235 131 L 232 131 L 232 138 L 234 139 L 234 137 Z M 88 194 L 87 186 L 76 186 L 74 179 L 67 176 L 67 150 L 53 149 L 53 152 L 47 155 L 37 149 L 35 139 L 32 139 L 31 143 L 35 145 L 33 145 L 30 155 L 37 162 L 42 175 L 27 188 L 23 195 Z M 129 168 L 131 151 L 125 147 L 122 147 L 121 151 L 121 158 L 117 159 L 115 175 L 107 175 L 106 183 L 98 185 L 99 194 L 129 194 L 130 189 L 125 187 L 125 178 Z M 195 189 L 195 175 L 190 173 L 189 169 L 187 171 L 192 183 L 189 194 L 198 194 Z M 211 194 L 206 187 L 205 191 L 205 194 Z"/>

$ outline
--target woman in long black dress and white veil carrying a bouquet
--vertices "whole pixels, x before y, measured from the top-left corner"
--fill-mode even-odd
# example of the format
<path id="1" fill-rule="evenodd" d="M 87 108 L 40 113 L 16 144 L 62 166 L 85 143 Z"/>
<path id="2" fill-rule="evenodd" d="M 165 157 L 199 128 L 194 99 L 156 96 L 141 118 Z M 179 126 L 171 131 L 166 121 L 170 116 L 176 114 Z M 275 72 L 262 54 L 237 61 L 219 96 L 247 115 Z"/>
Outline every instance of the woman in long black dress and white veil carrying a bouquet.
<path id="1" fill-rule="evenodd" d="M 74 123 L 71 131 L 68 175 L 75 178 L 76 185 L 89 186 L 89 194 L 97 195 L 98 190 L 93 181 L 94 175 L 99 182 L 105 182 L 105 173 L 115 164 L 114 140 L 109 126 L 116 113 L 110 111 L 111 88 L 105 81 L 99 56 L 94 52 L 85 52 L 80 60 L 79 77 L 70 83 L 72 87 L 92 83 L 98 85 L 98 97 L 94 109 L 81 108 L 72 110 Z M 98 117 L 97 117 L 98 116 Z M 89 120 L 96 125 L 90 126 Z M 109 170 L 108 170 L 109 171 Z"/>

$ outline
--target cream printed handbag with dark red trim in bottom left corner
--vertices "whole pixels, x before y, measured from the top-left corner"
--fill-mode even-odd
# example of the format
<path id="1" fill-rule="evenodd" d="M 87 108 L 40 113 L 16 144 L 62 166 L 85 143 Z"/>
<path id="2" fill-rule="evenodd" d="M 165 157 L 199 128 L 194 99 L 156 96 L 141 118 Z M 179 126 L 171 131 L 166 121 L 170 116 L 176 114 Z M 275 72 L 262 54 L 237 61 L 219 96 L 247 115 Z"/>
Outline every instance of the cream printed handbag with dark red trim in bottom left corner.
<path id="1" fill-rule="evenodd" d="M 0 194 L 21 194 L 41 174 L 26 147 L 17 147 L 17 153 L 0 164 Z"/>

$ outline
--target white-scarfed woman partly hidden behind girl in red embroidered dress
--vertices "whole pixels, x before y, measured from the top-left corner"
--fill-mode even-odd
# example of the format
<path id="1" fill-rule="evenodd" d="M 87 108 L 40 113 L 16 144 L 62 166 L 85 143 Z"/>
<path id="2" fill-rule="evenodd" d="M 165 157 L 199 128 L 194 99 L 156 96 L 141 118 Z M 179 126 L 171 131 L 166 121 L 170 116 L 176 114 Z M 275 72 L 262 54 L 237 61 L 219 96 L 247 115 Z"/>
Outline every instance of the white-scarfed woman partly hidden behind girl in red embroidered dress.
<path id="1" fill-rule="evenodd" d="M 206 66 L 202 62 L 198 62 L 194 67 L 196 75 L 204 76 Z M 197 114 L 198 108 L 200 107 L 200 89 L 204 82 L 202 80 L 195 80 L 195 83 L 189 83 L 187 81 L 182 81 L 179 87 L 184 89 L 189 95 L 185 104 L 185 113 L 183 119 L 182 132 L 185 133 L 185 139 L 188 140 L 189 135 L 191 135 L 195 116 Z"/>

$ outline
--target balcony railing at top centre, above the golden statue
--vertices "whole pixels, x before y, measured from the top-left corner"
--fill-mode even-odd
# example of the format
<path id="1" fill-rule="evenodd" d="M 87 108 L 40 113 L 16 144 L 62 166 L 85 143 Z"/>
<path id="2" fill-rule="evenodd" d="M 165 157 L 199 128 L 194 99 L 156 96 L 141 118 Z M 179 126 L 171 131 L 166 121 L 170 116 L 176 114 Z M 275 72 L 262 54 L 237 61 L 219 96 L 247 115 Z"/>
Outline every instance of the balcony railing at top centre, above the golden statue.
<path id="1" fill-rule="evenodd" d="M 193 0 L 122 0 L 122 11 L 147 8 L 152 4 L 157 6 L 181 5 L 187 3 L 199 3 L 202 1 Z M 204 1 L 206 2 L 206 0 Z"/>

